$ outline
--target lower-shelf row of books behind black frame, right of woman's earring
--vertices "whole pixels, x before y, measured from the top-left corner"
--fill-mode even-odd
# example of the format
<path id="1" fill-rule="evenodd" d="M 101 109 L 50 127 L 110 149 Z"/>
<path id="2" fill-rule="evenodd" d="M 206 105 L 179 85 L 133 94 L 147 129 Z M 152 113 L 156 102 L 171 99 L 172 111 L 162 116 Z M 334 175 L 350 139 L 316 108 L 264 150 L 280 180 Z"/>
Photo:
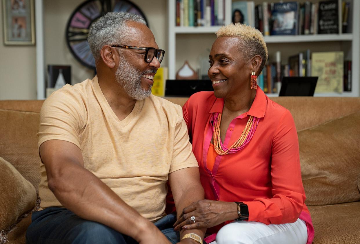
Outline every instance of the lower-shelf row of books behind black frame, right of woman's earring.
<path id="1" fill-rule="evenodd" d="M 351 61 L 344 61 L 343 52 L 313 52 L 305 50 L 290 56 L 281 64 L 280 53 L 276 62 L 268 62 L 258 76 L 258 85 L 265 93 L 278 93 L 282 78 L 288 76 L 318 76 L 316 93 L 351 92 Z"/>

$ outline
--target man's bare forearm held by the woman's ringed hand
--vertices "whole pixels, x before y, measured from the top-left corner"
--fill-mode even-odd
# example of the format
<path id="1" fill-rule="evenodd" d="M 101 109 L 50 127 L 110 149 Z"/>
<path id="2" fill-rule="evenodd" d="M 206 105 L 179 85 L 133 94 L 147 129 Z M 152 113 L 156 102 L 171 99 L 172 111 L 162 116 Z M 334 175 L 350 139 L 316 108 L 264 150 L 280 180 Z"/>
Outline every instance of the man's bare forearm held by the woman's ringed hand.
<path id="1" fill-rule="evenodd" d="M 169 183 L 174 196 L 177 218 L 181 216 L 185 207 L 204 199 L 204 189 L 200 183 L 199 168 L 197 167 L 179 169 L 170 173 Z M 187 233 L 195 233 L 203 239 L 205 231 L 206 229 L 180 230 L 180 240 Z M 196 243 L 189 238 L 181 242 Z"/>

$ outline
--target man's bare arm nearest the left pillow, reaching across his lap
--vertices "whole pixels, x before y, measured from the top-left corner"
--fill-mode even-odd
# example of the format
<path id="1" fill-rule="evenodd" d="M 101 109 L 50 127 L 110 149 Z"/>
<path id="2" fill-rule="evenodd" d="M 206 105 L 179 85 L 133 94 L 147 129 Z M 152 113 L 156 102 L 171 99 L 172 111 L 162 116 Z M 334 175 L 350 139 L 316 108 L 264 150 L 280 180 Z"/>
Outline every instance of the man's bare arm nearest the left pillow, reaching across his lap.
<path id="1" fill-rule="evenodd" d="M 39 150 L 48 187 L 64 207 L 83 219 L 129 235 L 139 243 L 169 243 L 155 225 L 84 168 L 81 150 L 75 144 L 49 140 L 42 143 Z"/>

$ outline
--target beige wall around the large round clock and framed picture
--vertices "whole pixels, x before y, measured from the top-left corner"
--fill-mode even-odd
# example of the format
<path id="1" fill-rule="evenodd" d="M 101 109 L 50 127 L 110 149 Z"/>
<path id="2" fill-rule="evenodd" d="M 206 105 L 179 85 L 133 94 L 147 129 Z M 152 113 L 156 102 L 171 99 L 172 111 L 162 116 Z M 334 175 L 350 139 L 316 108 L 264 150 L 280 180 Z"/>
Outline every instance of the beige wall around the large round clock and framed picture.
<path id="1" fill-rule="evenodd" d="M 44 0 L 45 65 L 71 65 L 73 84 L 94 76 L 94 71 L 75 60 L 65 40 L 68 18 L 83 2 L 84 0 Z M 132 2 L 138 5 L 147 17 L 158 46 L 166 50 L 166 0 Z M 3 26 L 2 16 L 0 26 Z M 3 31 L 0 32 L 0 38 L 0 100 L 36 99 L 36 47 L 4 46 Z M 162 63 L 167 64 L 166 57 Z"/>

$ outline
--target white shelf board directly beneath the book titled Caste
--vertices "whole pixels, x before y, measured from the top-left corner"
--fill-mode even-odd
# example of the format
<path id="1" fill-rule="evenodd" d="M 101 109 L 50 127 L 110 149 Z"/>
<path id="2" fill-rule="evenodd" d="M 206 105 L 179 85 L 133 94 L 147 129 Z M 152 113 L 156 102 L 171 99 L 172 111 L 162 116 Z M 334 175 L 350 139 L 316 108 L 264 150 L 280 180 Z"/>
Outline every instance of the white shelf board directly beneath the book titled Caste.
<path id="1" fill-rule="evenodd" d="M 265 36 L 266 43 L 289 43 L 289 42 L 333 42 L 352 41 L 352 34 L 316 34 L 297 36 Z"/>

